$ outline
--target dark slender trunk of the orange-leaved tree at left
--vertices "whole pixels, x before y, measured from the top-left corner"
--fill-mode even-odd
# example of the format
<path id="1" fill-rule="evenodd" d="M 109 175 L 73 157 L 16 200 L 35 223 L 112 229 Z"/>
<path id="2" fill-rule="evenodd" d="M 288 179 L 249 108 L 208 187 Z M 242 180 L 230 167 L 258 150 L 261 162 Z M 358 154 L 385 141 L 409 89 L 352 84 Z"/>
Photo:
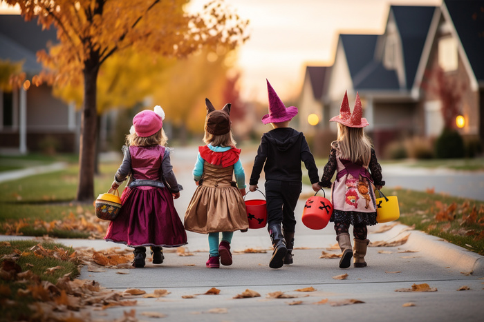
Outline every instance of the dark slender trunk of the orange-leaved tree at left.
<path id="1" fill-rule="evenodd" d="M 77 201 L 92 201 L 94 199 L 94 165 L 97 137 L 96 85 L 98 70 L 97 64 L 86 63 L 84 67 L 84 105 L 82 107 L 81 117 Z"/>

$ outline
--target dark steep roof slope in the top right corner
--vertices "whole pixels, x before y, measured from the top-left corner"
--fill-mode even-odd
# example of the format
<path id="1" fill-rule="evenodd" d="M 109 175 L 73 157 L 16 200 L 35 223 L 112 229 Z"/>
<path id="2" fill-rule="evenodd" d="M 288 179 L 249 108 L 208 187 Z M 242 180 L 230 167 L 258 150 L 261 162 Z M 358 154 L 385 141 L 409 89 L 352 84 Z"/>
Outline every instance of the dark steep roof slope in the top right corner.
<path id="1" fill-rule="evenodd" d="M 454 28 L 478 81 L 484 81 L 484 3 L 482 0 L 445 0 Z"/>

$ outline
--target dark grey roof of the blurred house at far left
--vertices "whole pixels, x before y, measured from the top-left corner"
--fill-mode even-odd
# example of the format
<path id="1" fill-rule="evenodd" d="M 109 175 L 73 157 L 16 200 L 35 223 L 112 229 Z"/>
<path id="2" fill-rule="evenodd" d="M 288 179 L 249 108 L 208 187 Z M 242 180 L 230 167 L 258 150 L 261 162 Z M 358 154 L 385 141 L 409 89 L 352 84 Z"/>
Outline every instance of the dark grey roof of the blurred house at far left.
<path id="1" fill-rule="evenodd" d="M 37 62 L 37 51 L 56 41 L 55 28 L 42 30 L 37 20 L 25 21 L 18 14 L 0 14 L 0 59 L 24 61 L 25 72 L 39 72 L 42 67 Z"/>

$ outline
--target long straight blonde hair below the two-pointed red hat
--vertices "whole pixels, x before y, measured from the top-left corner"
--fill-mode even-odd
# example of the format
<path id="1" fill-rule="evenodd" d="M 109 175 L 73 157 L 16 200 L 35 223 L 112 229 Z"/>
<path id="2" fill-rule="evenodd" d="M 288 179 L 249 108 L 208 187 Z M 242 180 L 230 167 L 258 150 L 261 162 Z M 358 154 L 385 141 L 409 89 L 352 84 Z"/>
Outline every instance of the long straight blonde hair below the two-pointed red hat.
<path id="1" fill-rule="evenodd" d="M 331 148 L 339 150 L 342 159 L 362 165 L 370 163 L 371 142 L 364 134 L 363 128 L 349 128 L 338 123 L 338 136 L 336 141 L 331 143 Z"/>

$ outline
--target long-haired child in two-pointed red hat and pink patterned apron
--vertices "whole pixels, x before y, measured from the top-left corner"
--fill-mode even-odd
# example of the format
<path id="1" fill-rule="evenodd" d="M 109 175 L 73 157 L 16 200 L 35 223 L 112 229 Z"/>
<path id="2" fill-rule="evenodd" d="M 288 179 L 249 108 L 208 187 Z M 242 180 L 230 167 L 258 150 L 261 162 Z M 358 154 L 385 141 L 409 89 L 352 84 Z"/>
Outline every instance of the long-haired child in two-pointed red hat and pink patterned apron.
<path id="1" fill-rule="evenodd" d="M 330 188 L 333 174 L 337 172 L 331 192 L 334 210 L 330 221 L 335 223 L 336 240 L 343 252 L 339 268 L 348 268 L 351 265 L 353 251 L 348 233 L 350 224 L 353 225 L 355 241 L 353 265 L 355 268 L 366 266 L 364 256 L 370 242 L 366 239 L 366 225 L 377 223 L 375 194 L 371 183 L 377 189 L 385 184 L 375 150 L 371 148 L 371 143 L 363 132 L 363 128 L 369 123 L 362 118 L 362 114 L 358 93 L 351 114 L 345 92 L 339 115 L 330 120 L 338 123 L 338 135 L 337 140 L 331 143 L 329 160 L 319 182 L 322 187 Z"/>

